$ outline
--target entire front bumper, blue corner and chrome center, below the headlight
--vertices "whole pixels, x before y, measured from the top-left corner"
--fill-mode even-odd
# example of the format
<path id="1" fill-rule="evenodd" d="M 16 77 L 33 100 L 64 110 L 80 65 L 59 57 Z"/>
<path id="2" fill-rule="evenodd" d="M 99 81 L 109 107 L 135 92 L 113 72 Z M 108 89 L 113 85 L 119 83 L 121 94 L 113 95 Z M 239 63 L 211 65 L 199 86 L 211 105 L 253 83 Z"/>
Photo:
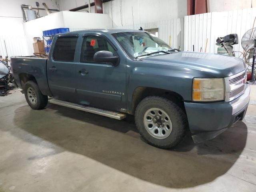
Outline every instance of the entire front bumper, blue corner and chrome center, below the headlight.
<path id="1" fill-rule="evenodd" d="M 231 102 L 184 102 L 188 124 L 195 143 L 210 140 L 242 120 L 250 101 L 250 86 Z"/>

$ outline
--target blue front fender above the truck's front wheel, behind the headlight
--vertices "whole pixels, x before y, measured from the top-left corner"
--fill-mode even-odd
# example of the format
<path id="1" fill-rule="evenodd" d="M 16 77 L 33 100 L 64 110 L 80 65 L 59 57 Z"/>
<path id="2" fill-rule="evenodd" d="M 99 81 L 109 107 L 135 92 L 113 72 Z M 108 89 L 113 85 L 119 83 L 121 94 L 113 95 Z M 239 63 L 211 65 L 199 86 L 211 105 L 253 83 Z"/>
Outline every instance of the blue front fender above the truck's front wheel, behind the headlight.
<path id="1" fill-rule="evenodd" d="M 136 61 L 135 61 L 136 62 Z M 152 64 L 154 65 L 154 64 Z M 136 67 L 128 64 L 127 109 L 132 106 L 132 96 L 138 87 L 150 87 L 176 92 L 184 100 L 191 100 L 194 72 L 177 66 L 153 68 L 150 63 L 136 62 Z M 130 68 L 130 70 L 129 70 Z"/>

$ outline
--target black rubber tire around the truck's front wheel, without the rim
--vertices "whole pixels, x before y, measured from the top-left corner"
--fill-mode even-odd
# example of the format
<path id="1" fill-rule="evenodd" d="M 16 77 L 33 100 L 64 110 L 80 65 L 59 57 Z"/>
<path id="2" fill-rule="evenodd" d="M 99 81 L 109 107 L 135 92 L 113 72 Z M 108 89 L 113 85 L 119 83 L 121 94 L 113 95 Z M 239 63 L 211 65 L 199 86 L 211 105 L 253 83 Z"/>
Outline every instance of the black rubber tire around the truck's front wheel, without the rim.
<path id="1" fill-rule="evenodd" d="M 146 130 L 143 117 L 150 108 L 159 108 L 170 117 L 172 131 L 167 138 L 155 138 Z M 187 116 L 182 108 L 171 100 L 159 96 L 146 97 L 138 104 L 135 111 L 135 123 L 140 135 L 148 144 L 164 149 L 176 146 L 181 141 L 188 127 Z"/>

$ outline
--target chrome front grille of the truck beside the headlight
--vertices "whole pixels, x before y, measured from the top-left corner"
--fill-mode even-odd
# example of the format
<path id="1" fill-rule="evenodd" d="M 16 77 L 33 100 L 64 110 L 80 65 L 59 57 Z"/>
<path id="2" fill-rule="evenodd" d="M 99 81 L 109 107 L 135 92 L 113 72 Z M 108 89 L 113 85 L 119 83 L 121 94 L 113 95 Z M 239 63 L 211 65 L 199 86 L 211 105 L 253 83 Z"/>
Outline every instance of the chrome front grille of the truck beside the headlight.
<path id="1" fill-rule="evenodd" d="M 246 70 L 234 74 L 230 77 L 224 78 L 225 80 L 225 101 L 232 101 L 238 98 L 240 95 L 244 93 L 245 90 L 245 83 L 244 81 L 247 78 Z"/>

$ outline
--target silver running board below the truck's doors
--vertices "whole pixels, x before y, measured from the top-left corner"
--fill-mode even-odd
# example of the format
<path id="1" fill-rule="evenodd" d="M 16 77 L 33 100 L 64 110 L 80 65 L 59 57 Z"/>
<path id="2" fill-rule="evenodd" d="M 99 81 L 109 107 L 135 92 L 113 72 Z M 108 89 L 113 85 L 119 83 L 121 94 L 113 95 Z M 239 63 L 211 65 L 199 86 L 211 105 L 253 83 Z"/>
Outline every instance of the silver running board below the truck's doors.
<path id="1" fill-rule="evenodd" d="M 84 106 L 84 105 L 61 101 L 61 100 L 57 100 L 57 99 L 50 99 L 49 102 L 52 104 L 57 104 L 57 105 L 61 105 L 61 106 L 65 106 L 65 107 L 69 107 L 69 108 L 73 108 L 73 109 L 78 109 L 81 111 L 86 111 L 89 113 L 94 113 L 94 114 L 110 117 L 113 119 L 121 120 L 121 119 L 126 118 L 126 114 L 115 112 L 115 111 L 98 109 L 98 108 L 94 108 L 94 107 Z"/>

